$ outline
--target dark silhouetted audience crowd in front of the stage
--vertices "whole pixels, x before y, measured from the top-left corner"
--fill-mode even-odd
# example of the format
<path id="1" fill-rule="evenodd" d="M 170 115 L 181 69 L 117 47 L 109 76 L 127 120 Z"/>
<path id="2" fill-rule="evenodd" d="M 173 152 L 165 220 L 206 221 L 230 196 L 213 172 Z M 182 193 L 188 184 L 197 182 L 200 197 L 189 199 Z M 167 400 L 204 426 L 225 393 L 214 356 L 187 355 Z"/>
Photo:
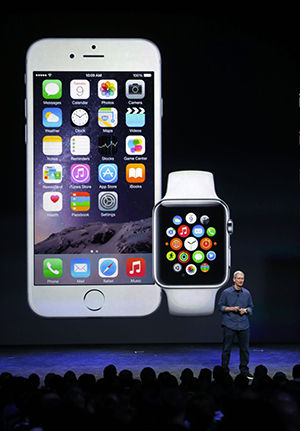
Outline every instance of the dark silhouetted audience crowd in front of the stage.
<path id="1" fill-rule="evenodd" d="M 190 368 L 179 381 L 169 371 L 151 367 L 134 378 L 113 364 L 103 377 L 48 373 L 43 382 L 0 374 L 0 429 L 3 431 L 299 431 L 300 364 L 292 379 L 265 365 L 255 368 L 253 381 L 232 378 L 216 365 L 198 377 Z"/>

